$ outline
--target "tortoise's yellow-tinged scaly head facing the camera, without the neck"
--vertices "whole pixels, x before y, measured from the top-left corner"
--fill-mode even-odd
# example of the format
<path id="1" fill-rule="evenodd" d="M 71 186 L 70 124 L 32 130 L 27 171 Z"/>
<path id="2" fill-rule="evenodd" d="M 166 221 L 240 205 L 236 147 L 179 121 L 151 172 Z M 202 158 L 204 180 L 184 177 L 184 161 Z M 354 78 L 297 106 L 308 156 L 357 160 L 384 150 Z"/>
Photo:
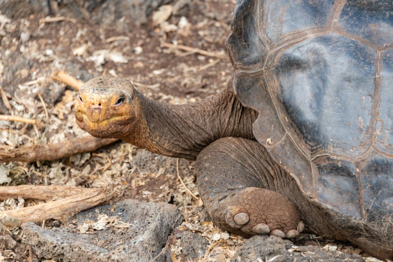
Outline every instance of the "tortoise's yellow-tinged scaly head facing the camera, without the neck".
<path id="1" fill-rule="evenodd" d="M 97 138 L 127 136 L 137 122 L 135 88 L 121 77 L 100 76 L 82 85 L 75 101 L 78 126 Z"/>

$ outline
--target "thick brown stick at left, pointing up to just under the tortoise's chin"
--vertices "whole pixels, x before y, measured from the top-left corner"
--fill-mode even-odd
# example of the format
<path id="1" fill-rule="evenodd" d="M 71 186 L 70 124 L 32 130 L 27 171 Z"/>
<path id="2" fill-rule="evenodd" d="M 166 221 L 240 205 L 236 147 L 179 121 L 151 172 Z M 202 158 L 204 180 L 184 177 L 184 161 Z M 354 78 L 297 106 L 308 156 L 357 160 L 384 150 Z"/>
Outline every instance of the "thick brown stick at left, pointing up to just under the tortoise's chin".
<path id="1" fill-rule="evenodd" d="M 17 161 L 52 161 L 75 154 L 91 152 L 116 141 L 118 141 L 118 139 L 99 139 L 89 136 L 72 139 L 57 144 L 40 144 L 31 147 L 22 147 L 12 151 L 0 149 L 0 163 Z"/>

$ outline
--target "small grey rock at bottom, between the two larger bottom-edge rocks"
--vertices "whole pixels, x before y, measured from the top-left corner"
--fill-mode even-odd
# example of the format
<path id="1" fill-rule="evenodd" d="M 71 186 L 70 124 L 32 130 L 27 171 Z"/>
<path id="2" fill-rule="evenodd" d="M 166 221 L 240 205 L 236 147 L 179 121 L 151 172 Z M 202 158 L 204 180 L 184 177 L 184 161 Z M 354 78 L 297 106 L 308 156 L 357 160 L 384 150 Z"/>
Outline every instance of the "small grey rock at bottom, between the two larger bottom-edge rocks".
<path id="1" fill-rule="evenodd" d="M 209 246 L 205 238 L 189 231 L 184 231 L 180 237 L 181 252 L 187 256 L 185 261 L 188 261 L 188 258 L 204 257 Z"/>

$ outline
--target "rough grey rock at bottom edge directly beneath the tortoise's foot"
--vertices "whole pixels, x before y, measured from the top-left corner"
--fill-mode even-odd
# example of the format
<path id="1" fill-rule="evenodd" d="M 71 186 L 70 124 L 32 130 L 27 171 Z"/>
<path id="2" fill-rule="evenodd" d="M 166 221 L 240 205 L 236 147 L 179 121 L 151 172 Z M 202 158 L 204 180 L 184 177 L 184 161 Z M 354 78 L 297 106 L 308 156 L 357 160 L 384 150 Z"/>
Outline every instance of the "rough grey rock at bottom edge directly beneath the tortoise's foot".
<path id="1" fill-rule="evenodd" d="M 364 259 L 357 254 L 344 254 L 323 250 L 318 246 L 295 246 L 291 241 L 276 236 L 256 235 L 248 239 L 232 257 L 231 262 L 273 261 L 357 261 Z M 269 260 L 270 259 L 270 260 Z"/>

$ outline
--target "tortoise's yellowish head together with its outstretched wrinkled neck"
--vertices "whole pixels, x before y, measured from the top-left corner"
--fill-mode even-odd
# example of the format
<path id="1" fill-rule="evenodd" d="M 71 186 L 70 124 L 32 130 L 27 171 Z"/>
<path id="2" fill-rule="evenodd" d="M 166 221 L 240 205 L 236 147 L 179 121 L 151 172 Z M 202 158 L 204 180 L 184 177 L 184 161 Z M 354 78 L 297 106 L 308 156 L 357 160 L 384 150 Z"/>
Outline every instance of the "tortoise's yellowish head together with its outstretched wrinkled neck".
<path id="1" fill-rule="evenodd" d="M 75 103 L 76 123 L 97 138 L 118 138 L 150 152 L 195 160 L 225 137 L 255 140 L 257 113 L 244 107 L 232 81 L 200 102 L 168 105 L 145 97 L 128 80 L 101 76 L 86 82 Z"/>

